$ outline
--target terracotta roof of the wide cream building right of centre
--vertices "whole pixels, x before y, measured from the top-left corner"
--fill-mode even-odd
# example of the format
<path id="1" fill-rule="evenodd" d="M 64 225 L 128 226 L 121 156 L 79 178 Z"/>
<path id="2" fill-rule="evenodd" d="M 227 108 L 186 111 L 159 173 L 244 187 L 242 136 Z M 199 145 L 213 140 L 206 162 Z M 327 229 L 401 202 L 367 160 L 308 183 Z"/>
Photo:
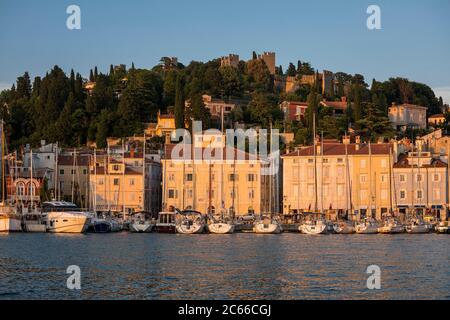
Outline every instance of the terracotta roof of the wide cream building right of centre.
<path id="1" fill-rule="evenodd" d="M 389 154 L 390 144 L 388 143 L 377 143 L 371 144 L 371 153 L 373 155 Z M 356 144 L 347 145 L 347 152 L 349 155 L 368 155 L 369 154 L 369 144 L 360 144 L 359 150 L 356 148 Z M 320 154 L 317 154 L 320 155 Z M 345 144 L 342 143 L 324 143 L 323 145 L 323 155 L 324 156 L 339 156 L 345 155 Z M 296 150 L 294 152 L 283 155 L 282 158 L 289 157 L 312 157 L 314 156 L 314 147 L 309 146 L 303 149 Z"/>

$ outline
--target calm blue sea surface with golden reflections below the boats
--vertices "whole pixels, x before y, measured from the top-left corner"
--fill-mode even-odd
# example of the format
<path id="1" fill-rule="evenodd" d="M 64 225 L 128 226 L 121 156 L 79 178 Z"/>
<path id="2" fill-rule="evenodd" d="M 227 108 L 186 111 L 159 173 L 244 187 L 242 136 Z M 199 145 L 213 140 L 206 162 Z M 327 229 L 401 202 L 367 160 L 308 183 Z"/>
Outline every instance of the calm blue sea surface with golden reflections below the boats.
<path id="1" fill-rule="evenodd" d="M 449 258 L 436 234 L 10 234 L 0 299 L 450 299 Z M 381 290 L 366 287 L 374 264 Z"/>

